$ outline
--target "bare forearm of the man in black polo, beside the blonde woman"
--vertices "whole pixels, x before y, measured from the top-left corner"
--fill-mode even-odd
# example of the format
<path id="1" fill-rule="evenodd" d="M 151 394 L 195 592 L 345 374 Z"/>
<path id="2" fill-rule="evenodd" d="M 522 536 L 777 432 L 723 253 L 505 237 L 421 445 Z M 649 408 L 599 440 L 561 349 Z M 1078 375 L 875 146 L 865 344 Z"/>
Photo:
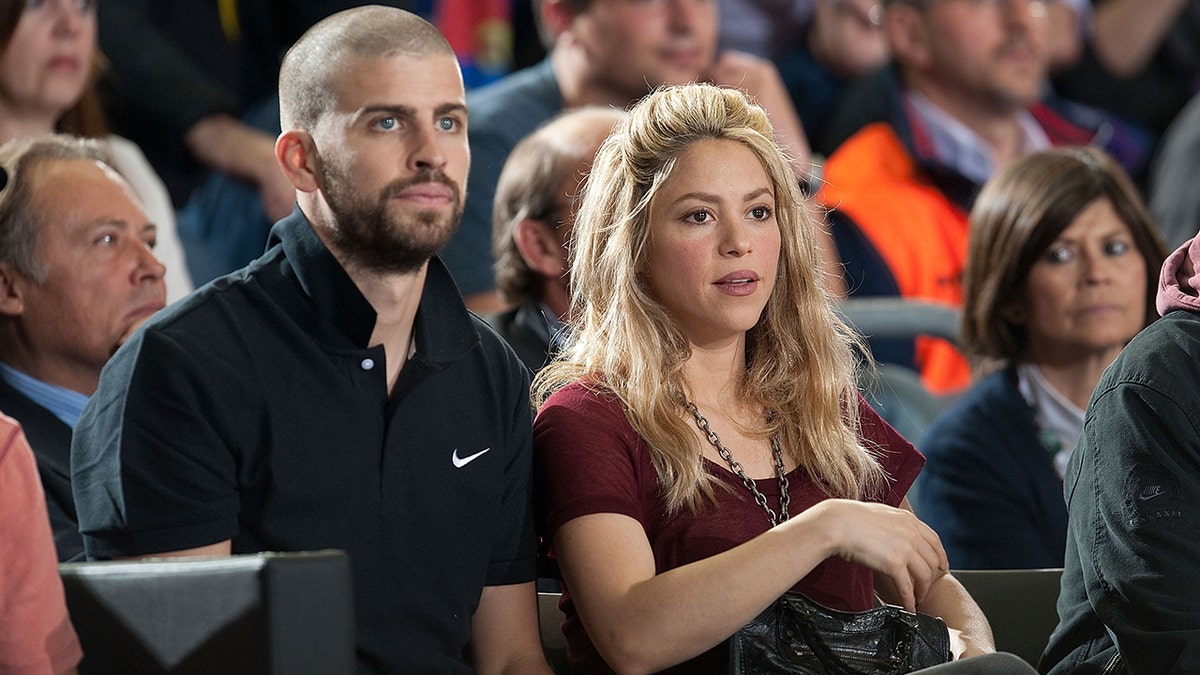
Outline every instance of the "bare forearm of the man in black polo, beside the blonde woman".
<path id="1" fill-rule="evenodd" d="M 484 586 L 470 629 L 480 675 L 552 673 L 541 650 L 533 581 Z"/>

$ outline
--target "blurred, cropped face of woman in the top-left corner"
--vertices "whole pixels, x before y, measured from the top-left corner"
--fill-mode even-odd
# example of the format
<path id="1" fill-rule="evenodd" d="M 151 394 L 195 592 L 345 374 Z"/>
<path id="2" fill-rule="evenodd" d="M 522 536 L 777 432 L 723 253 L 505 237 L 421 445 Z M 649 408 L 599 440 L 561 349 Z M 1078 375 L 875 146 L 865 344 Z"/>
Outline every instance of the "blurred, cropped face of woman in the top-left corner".
<path id="1" fill-rule="evenodd" d="M 24 7 L 0 56 L 0 114 L 53 124 L 79 100 L 91 73 L 96 4 L 29 0 Z"/>

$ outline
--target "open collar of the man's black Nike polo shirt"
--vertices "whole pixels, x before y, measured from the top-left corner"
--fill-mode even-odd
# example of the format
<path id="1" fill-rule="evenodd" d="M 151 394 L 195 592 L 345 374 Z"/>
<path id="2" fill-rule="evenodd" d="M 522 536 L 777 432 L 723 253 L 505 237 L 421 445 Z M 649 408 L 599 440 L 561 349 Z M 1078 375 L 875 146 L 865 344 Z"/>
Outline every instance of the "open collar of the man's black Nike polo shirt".
<path id="1" fill-rule="evenodd" d="M 374 330 L 376 311 L 346 273 L 308 219 L 296 207 L 271 228 L 268 247 L 283 246 L 301 291 L 323 323 L 330 324 L 353 345 L 365 348 Z M 430 362 L 451 362 L 479 342 L 458 288 L 437 257 L 430 259 L 425 287 L 413 324 L 416 356 Z"/>

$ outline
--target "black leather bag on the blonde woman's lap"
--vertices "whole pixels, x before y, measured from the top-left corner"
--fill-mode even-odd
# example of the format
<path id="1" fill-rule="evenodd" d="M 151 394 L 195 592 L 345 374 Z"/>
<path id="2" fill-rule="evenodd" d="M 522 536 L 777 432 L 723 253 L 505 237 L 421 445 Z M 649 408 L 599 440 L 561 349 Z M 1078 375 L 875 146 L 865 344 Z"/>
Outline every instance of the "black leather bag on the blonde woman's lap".
<path id="1" fill-rule="evenodd" d="M 838 611 L 786 593 L 730 638 L 731 675 L 893 675 L 950 661 L 941 619 L 894 605 Z"/>

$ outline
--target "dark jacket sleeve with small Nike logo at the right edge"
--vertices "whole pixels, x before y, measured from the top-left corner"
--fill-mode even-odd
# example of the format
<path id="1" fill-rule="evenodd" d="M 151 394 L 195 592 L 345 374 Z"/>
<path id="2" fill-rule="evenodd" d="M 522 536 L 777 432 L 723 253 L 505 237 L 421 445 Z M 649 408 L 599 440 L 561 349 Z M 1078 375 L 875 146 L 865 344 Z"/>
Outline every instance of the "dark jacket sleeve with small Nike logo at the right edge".
<path id="1" fill-rule="evenodd" d="M 1156 354 L 1162 363 L 1182 354 Z M 1186 358 L 1194 358 L 1188 354 Z M 1194 369 L 1171 374 L 1189 383 Z M 1104 386 L 1103 382 L 1100 384 Z M 1187 387 L 1122 383 L 1099 394 L 1068 474 L 1068 536 L 1081 557 L 1093 611 L 1130 673 L 1200 663 L 1198 401 Z"/>

